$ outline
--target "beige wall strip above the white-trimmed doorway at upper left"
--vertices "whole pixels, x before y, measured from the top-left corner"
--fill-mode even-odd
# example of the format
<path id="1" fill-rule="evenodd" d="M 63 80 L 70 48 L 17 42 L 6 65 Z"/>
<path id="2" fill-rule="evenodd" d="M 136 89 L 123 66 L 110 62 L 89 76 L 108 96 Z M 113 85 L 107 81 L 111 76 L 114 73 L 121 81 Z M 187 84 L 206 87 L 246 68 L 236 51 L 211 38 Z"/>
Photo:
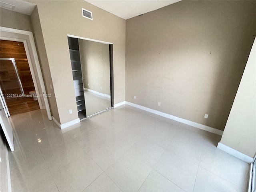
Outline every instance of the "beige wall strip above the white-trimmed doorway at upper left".
<path id="1" fill-rule="evenodd" d="M 0 8 L 0 25 L 13 29 L 33 31 L 29 15 Z"/>

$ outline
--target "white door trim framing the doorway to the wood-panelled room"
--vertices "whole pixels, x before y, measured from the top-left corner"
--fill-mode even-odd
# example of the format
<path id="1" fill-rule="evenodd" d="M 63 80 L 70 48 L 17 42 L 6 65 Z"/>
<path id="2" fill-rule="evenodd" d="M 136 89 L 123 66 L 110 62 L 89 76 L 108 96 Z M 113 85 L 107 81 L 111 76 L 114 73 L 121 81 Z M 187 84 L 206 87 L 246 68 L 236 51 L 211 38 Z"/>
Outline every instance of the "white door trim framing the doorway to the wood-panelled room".
<path id="1" fill-rule="evenodd" d="M 36 64 L 36 70 L 37 70 L 37 74 L 38 74 L 38 78 L 39 78 L 39 83 L 40 83 L 42 92 L 43 92 L 44 95 L 47 95 L 46 89 L 45 89 L 45 86 L 44 86 L 44 79 L 43 79 L 43 76 L 42 76 L 42 71 L 41 71 L 41 68 L 40 68 L 40 63 L 39 63 L 38 55 L 37 55 L 37 52 L 36 52 L 36 44 L 35 44 L 35 41 L 34 41 L 33 33 L 30 32 L 30 31 L 24 31 L 24 30 L 7 28 L 7 27 L 1 27 L 1 26 L 0 26 L 0 31 L 10 32 L 10 33 L 17 33 L 17 34 L 23 34 L 23 35 L 28 36 L 29 42 L 27 42 L 26 40 L 22 40 L 22 42 L 24 43 L 24 47 L 25 47 L 25 50 L 26 50 L 26 54 L 27 54 L 27 58 L 28 58 L 28 63 L 29 63 L 29 66 L 30 66 L 30 71 L 31 71 L 32 79 L 33 79 L 33 82 L 34 82 L 34 85 L 35 85 L 36 93 L 38 94 L 39 90 L 38 90 L 37 84 L 35 83 L 36 82 L 36 78 L 35 78 L 34 70 L 32 68 L 31 57 L 34 58 L 34 61 L 35 61 L 35 64 Z M 2 36 L 0 36 L 0 37 L 1 37 L 1 39 L 4 39 L 4 40 L 12 39 L 12 40 L 15 41 L 15 38 L 8 38 L 8 37 L 2 37 Z M 16 39 L 16 41 L 17 40 L 20 41 L 20 39 Z M 32 53 L 30 53 L 29 50 L 28 50 L 28 43 L 30 43 L 30 45 L 31 45 Z M 44 97 L 44 96 L 43 96 L 43 98 L 44 98 L 44 103 L 45 103 L 48 119 L 52 120 L 52 114 L 51 114 L 51 111 L 50 111 L 50 106 L 49 106 L 48 98 Z M 40 108 L 41 108 L 42 107 L 41 100 L 40 100 L 40 102 L 38 100 L 38 103 L 39 104 L 41 103 L 40 104 L 41 105 Z"/>

